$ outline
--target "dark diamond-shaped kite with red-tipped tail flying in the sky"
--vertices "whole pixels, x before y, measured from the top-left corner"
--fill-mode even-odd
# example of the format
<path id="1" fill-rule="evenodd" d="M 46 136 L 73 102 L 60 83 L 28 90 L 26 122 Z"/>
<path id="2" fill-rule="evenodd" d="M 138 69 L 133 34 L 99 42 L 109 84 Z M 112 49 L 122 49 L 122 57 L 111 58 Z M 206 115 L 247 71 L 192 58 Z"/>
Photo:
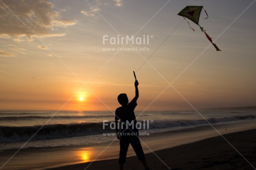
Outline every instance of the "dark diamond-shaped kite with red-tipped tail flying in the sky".
<path id="1" fill-rule="evenodd" d="M 192 22 L 194 22 L 195 24 L 197 24 L 201 31 L 205 33 L 205 36 L 209 39 L 209 41 L 211 42 L 211 44 L 213 44 L 213 46 L 216 48 L 216 51 L 221 51 L 217 46 L 216 44 L 213 43 L 213 41 L 211 40 L 211 37 L 205 32 L 204 30 L 204 27 L 201 27 L 199 25 L 199 18 L 200 18 L 200 14 L 201 14 L 201 11 L 203 9 L 203 6 L 186 6 L 184 9 L 182 9 L 178 15 L 179 16 L 182 16 L 184 19 L 188 18 L 190 19 Z M 205 9 L 204 9 L 205 11 Z M 206 14 L 206 18 L 208 18 L 208 14 L 207 12 L 205 11 L 205 14 Z M 186 17 L 186 18 L 185 18 Z M 206 19 L 204 18 L 204 19 Z M 189 24 L 189 22 L 188 22 Z M 189 27 L 190 27 L 190 24 L 189 24 Z M 190 27 L 190 29 L 193 29 Z M 193 31 L 195 31 L 193 29 Z"/>

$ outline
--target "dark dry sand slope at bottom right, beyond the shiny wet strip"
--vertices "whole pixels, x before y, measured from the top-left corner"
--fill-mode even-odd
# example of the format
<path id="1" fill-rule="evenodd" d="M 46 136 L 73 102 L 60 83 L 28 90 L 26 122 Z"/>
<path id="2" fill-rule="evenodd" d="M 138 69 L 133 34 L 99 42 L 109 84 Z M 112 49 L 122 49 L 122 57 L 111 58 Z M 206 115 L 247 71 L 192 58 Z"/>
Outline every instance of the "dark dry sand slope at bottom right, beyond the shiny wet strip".
<path id="1" fill-rule="evenodd" d="M 225 139 L 227 139 L 227 141 Z M 152 169 L 255 169 L 256 129 L 224 134 L 147 153 Z M 234 148 L 233 148 L 233 147 Z M 53 169 L 119 169 L 117 159 L 74 164 Z M 135 156 L 128 157 L 125 169 L 144 169 Z"/>

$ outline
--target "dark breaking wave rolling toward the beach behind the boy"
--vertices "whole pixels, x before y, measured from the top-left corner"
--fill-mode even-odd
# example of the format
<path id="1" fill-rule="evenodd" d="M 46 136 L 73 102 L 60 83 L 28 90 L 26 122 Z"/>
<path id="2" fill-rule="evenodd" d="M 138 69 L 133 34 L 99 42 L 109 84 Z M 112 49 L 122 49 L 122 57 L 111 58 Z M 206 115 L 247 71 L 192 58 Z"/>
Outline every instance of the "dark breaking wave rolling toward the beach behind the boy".
<path id="1" fill-rule="evenodd" d="M 256 116 L 249 115 L 224 118 L 209 118 L 207 119 L 207 121 L 204 119 L 180 121 L 156 120 L 154 122 L 149 121 L 149 130 L 172 127 L 194 127 L 208 124 L 208 122 L 214 124 L 220 122 L 232 122 L 254 118 L 256 118 Z M 104 129 L 103 123 L 49 124 L 45 126 L 22 127 L 0 126 L 0 143 L 88 136 L 92 134 L 102 134 L 105 132 L 115 132 L 115 129 L 111 129 L 110 124 L 109 126 L 105 126 Z"/>

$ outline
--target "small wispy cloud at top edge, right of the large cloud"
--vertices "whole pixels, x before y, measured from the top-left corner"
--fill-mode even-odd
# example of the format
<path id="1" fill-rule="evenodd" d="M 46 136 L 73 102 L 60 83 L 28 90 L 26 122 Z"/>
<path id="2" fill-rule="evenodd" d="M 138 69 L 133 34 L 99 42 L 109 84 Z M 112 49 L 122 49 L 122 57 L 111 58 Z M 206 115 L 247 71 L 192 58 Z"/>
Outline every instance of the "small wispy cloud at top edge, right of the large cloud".
<path id="1" fill-rule="evenodd" d="M 121 7 L 123 1 L 124 0 L 111 0 L 111 2 L 114 2 L 114 5 L 117 6 L 117 7 Z M 83 9 L 81 11 L 81 13 L 84 14 L 86 17 L 95 16 L 95 14 L 100 11 L 100 6 L 102 4 L 104 4 L 104 5 L 108 4 L 105 1 L 102 1 L 102 2 L 104 2 L 104 3 L 101 3 L 101 0 L 97 0 L 96 4 L 93 5 L 93 6 L 91 4 L 88 4 L 88 6 L 90 6 L 90 8 L 89 9 Z"/>

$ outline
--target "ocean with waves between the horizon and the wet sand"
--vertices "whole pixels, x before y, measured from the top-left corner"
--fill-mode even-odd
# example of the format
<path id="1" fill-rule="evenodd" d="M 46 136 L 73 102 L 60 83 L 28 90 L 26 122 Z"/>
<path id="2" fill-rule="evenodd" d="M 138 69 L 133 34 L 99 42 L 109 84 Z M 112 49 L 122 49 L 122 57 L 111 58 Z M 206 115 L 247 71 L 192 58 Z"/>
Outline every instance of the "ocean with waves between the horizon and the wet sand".
<path id="1" fill-rule="evenodd" d="M 146 123 L 140 130 L 144 135 L 206 126 L 208 123 L 214 126 L 256 119 L 254 107 L 199 112 L 201 115 L 195 111 L 136 111 L 135 114 L 137 122 Z M 0 151 L 113 141 L 116 137 L 115 129 L 111 129 L 114 118 L 114 112 L 110 111 L 2 111 Z"/>

